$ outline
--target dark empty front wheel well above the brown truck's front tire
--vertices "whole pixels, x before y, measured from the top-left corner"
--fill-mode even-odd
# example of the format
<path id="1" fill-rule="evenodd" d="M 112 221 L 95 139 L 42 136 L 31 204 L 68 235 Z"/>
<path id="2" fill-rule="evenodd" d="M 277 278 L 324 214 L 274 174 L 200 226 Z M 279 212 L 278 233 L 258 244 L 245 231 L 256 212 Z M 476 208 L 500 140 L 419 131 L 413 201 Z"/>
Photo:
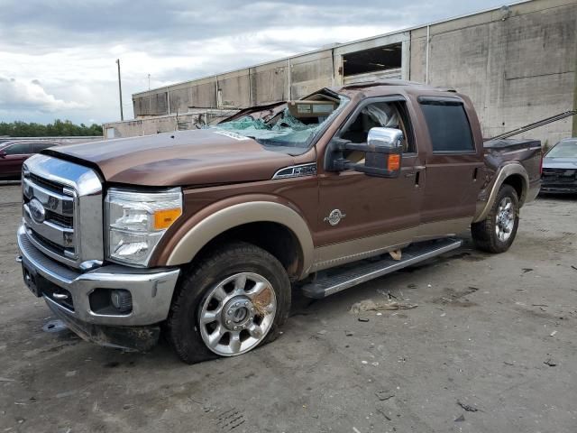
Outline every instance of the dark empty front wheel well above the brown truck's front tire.
<path id="1" fill-rule="evenodd" d="M 298 278 L 303 263 L 302 249 L 297 236 L 287 226 L 278 223 L 263 221 L 230 228 L 206 244 L 197 257 L 234 241 L 253 244 L 271 253 L 287 270 L 291 280 Z"/>

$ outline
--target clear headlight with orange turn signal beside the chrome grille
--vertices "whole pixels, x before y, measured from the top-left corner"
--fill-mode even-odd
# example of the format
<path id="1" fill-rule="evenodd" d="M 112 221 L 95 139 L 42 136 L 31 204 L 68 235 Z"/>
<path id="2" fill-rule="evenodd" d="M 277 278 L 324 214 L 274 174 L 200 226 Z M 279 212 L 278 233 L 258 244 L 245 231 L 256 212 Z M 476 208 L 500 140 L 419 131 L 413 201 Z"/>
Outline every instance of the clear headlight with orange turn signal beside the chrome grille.
<path id="1" fill-rule="evenodd" d="M 182 192 L 109 189 L 105 198 L 107 257 L 146 266 L 160 238 L 182 215 Z"/>

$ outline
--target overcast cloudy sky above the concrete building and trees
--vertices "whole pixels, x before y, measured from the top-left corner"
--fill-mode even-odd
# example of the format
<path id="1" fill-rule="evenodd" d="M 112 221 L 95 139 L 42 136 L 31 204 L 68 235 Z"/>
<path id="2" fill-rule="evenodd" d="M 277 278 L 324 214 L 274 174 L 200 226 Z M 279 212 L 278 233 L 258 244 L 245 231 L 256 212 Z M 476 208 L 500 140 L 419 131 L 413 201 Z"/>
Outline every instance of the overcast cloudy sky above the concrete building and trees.
<path id="1" fill-rule="evenodd" d="M 0 0 L 0 121 L 124 118 L 132 94 L 456 15 L 503 0 Z"/>

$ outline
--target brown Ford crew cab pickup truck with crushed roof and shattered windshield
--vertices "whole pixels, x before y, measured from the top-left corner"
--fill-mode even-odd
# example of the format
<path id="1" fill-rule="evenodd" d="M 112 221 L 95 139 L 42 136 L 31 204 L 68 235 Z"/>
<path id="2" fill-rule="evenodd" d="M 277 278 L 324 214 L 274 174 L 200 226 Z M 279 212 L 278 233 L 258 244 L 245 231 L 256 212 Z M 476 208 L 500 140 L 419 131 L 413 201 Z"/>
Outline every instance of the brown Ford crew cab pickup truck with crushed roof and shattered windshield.
<path id="1" fill-rule="evenodd" d="M 162 332 L 188 363 L 241 355 L 279 335 L 291 289 L 323 298 L 457 248 L 470 227 L 506 251 L 540 163 L 538 142 L 484 143 L 451 89 L 324 88 L 33 156 L 19 260 L 88 340 L 148 350 Z"/>

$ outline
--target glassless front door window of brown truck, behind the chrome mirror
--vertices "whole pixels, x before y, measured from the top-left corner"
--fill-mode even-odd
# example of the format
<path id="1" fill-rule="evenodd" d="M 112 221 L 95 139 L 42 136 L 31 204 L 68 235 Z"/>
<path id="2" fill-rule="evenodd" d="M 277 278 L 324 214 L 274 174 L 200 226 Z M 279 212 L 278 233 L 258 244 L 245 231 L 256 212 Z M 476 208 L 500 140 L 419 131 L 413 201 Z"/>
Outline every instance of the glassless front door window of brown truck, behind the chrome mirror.
<path id="1" fill-rule="evenodd" d="M 340 137 L 353 143 L 367 143 L 369 131 L 374 127 L 395 128 L 403 132 L 403 152 L 415 152 L 408 116 L 401 102 L 375 102 L 363 106 L 353 122 L 348 124 Z M 347 157 L 347 155 L 344 155 Z"/>

